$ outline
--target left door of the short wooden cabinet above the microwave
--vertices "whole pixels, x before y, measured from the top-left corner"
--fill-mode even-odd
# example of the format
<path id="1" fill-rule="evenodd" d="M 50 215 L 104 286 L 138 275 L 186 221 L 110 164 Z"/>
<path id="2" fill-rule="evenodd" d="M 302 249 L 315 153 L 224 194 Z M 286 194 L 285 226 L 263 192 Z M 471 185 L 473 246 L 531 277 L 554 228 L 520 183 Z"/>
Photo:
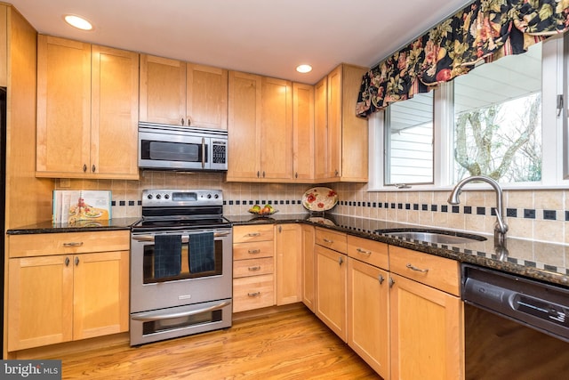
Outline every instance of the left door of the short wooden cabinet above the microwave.
<path id="1" fill-rule="evenodd" d="M 187 125 L 186 62 L 140 55 L 140 121 Z"/>

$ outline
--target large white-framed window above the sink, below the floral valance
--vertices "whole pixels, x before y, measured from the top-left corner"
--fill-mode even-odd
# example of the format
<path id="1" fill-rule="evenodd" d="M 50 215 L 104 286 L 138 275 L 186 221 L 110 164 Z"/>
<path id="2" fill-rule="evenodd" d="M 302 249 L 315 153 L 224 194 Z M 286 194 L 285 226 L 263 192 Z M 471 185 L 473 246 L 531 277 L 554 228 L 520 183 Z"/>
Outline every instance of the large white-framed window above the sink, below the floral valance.
<path id="1" fill-rule="evenodd" d="M 568 39 L 551 37 L 376 112 L 370 117 L 369 189 L 398 183 L 445 188 L 473 174 L 490 175 L 505 188 L 567 186 L 569 131 L 566 105 L 558 101 L 567 86 Z M 432 100 L 430 114 L 423 113 L 422 95 Z M 413 113 L 424 118 L 400 121 Z M 423 128 L 432 134 L 422 135 L 420 150 L 416 138 Z M 417 161 L 400 165 L 404 152 Z"/>

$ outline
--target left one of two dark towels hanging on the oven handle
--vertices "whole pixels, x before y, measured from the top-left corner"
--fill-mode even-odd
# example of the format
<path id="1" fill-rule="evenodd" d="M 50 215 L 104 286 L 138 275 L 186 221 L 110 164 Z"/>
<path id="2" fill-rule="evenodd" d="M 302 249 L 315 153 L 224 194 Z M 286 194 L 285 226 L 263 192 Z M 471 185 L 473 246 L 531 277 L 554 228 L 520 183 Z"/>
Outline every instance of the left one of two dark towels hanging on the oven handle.
<path id="1" fill-rule="evenodd" d="M 181 271 L 181 235 L 154 238 L 154 278 L 177 276 Z"/>

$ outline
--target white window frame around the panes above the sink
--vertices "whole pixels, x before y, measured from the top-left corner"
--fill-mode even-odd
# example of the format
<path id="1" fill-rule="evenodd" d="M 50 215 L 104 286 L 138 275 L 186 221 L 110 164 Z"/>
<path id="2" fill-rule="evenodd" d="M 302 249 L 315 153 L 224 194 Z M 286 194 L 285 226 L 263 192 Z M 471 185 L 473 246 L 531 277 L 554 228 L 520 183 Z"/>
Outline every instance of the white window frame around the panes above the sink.
<path id="1" fill-rule="evenodd" d="M 501 182 L 505 190 L 546 190 L 569 186 L 569 33 L 552 36 L 542 43 L 541 59 L 541 144 L 540 182 Z M 466 74 L 468 75 L 468 74 Z M 434 105 L 434 179 L 432 184 L 411 184 L 408 189 L 397 189 L 383 184 L 383 167 L 388 152 L 384 148 L 384 111 L 369 117 L 369 191 L 450 190 L 453 188 L 454 109 L 453 82 L 433 90 Z M 557 116 L 557 95 L 562 94 L 564 105 Z M 554 149 L 551 149 L 554 148 Z M 485 184 L 472 184 L 484 189 Z"/>

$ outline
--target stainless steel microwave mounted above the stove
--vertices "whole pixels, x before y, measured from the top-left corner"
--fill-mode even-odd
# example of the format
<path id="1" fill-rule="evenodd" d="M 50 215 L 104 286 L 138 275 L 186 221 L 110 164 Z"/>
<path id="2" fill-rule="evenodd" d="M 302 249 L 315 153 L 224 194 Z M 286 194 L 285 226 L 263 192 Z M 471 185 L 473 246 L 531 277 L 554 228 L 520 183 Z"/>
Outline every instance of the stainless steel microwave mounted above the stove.
<path id="1" fill-rule="evenodd" d="M 153 170 L 227 171 L 228 132 L 141 122 L 139 167 Z"/>

